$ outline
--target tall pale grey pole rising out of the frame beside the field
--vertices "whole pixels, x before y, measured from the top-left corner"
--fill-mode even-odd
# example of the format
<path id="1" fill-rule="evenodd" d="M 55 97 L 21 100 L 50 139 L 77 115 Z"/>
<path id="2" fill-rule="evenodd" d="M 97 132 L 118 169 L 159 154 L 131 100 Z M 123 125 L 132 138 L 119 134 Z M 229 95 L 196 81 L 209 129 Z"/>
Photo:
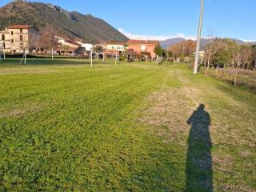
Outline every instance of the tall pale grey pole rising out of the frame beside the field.
<path id="1" fill-rule="evenodd" d="M 201 40 L 201 34 L 202 34 L 203 4 L 204 4 L 204 0 L 201 0 L 201 10 L 200 10 L 200 18 L 199 18 L 199 26 L 198 26 L 198 42 L 197 42 L 197 50 L 194 58 L 194 74 L 198 74 L 199 50 L 200 50 L 200 40 Z"/>

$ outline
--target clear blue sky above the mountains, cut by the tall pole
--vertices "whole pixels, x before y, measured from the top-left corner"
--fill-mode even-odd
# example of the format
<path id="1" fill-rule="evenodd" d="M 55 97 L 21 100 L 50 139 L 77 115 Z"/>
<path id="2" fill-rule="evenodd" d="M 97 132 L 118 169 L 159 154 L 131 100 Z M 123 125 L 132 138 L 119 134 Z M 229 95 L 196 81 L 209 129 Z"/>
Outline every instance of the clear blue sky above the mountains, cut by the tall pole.
<path id="1" fill-rule="evenodd" d="M 10 0 L 1 0 L 0 6 Z M 35 2 L 35 1 L 31 1 Z M 102 18 L 130 38 L 195 38 L 200 0 L 38 0 Z M 203 37 L 256 41 L 255 0 L 205 0 Z"/>

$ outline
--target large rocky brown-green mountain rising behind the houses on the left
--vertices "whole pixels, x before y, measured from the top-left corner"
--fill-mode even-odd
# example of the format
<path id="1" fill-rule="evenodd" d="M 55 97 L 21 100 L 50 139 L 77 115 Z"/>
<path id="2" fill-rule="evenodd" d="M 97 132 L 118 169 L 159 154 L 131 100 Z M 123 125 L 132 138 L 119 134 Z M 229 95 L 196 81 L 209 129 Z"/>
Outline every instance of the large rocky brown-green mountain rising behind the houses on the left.
<path id="1" fill-rule="evenodd" d="M 128 38 L 101 18 L 68 12 L 60 6 L 42 2 L 12 1 L 0 8 L 0 29 L 14 24 L 34 25 L 38 30 L 51 25 L 66 38 L 86 41 L 127 41 Z"/>

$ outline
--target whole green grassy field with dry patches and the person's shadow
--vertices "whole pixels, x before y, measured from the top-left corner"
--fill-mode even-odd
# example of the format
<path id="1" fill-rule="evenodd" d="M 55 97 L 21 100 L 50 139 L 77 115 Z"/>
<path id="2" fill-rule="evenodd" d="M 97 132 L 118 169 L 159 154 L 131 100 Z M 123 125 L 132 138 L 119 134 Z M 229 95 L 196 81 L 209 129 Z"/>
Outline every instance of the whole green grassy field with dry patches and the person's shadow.
<path id="1" fill-rule="evenodd" d="M 1 191 L 256 191 L 256 95 L 186 66 L 0 64 Z"/>

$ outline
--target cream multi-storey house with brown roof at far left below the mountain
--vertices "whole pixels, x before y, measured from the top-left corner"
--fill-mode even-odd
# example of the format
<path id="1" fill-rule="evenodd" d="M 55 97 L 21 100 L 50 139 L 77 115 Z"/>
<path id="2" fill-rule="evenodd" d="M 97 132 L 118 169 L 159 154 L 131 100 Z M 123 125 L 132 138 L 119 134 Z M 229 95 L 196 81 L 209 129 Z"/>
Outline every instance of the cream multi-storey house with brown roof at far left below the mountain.
<path id="1" fill-rule="evenodd" d="M 21 54 L 29 52 L 34 39 L 40 37 L 39 31 L 34 26 L 14 25 L 0 30 L 0 44 L 6 53 Z"/>

